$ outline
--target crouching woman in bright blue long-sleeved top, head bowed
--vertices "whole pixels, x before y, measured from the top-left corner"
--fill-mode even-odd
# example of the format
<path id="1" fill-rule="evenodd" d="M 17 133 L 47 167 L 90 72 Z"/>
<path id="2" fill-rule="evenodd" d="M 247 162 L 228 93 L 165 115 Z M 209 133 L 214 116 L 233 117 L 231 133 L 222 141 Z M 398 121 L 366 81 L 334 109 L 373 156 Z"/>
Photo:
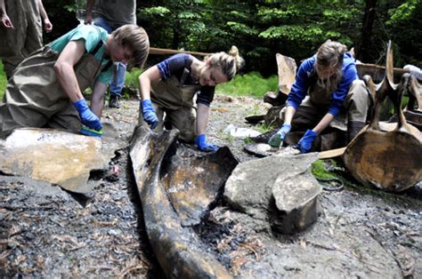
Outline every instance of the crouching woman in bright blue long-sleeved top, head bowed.
<path id="1" fill-rule="evenodd" d="M 272 136 L 269 144 L 280 147 L 293 128 L 308 129 L 299 140 L 302 153 L 312 149 L 317 135 L 329 126 L 340 113 L 347 113 L 347 138 L 365 126 L 369 94 L 359 80 L 353 57 L 344 44 L 327 41 L 318 52 L 304 60 L 297 71 L 296 81 L 288 94 L 288 104 L 281 116 L 284 124 Z"/>

